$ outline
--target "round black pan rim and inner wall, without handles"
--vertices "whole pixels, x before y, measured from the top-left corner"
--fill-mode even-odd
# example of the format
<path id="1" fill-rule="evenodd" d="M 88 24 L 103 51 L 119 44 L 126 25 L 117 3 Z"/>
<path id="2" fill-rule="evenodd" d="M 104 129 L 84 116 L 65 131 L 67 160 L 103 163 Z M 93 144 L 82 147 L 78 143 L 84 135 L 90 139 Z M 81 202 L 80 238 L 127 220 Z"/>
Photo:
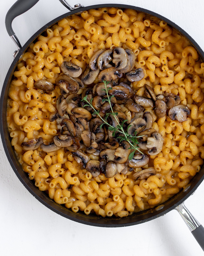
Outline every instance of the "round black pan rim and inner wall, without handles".
<path id="1" fill-rule="evenodd" d="M 88 10 L 88 9 L 103 8 L 105 6 L 118 7 L 117 5 L 113 5 L 113 4 L 97 5 L 97 6 L 90 6 L 90 7 L 82 8 L 81 10 L 84 11 L 84 10 Z M 120 5 L 120 8 L 130 8 L 130 6 Z M 160 15 L 152 13 L 148 10 L 144 10 L 144 9 L 136 8 L 136 7 L 132 7 L 132 6 L 131 6 L 131 8 L 138 10 L 138 11 L 143 11 L 150 15 L 157 16 L 158 18 L 166 21 L 171 26 L 174 25 L 174 27 L 179 32 L 181 32 L 186 38 L 188 38 L 188 40 L 192 43 L 192 45 L 197 49 L 197 51 L 203 58 L 203 56 L 204 56 L 203 51 L 196 44 L 196 42 L 187 33 L 185 33 L 181 28 L 179 28 L 178 26 L 173 24 L 171 21 L 165 19 L 164 17 L 162 17 Z M 18 176 L 20 181 L 24 184 L 24 186 L 30 191 L 30 193 L 32 195 L 34 195 L 40 202 L 42 202 L 48 208 L 50 208 L 54 212 L 66 217 L 66 218 L 70 218 L 72 220 L 75 220 L 75 221 L 78 221 L 78 222 L 84 223 L 84 224 L 96 225 L 96 226 L 106 226 L 106 227 L 117 227 L 117 226 L 139 224 L 139 223 L 151 220 L 153 218 L 157 218 L 157 217 L 165 214 L 166 212 L 170 211 L 171 209 L 174 209 L 178 204 L 180 204 L 182 201 L 184 201 L 189 195 L 191 195 L 195 191 L 197 186 L 201 183 L 201 181 L 204 178 L 203 177 L 203 175 L 204 175 L 203 167 L 201 168 L 200 172 L 197 173 L 196 176 L 194 176 L 191 179 L 191 181 L 189 183 L 190 186 L 188 187 L 188 189 L 186 189 L 186 190 L 184 189 L 185 191 L 182 189 L 178 194 L 174 195 L 168 201 L 164 202 L 162 204 L 162 207 L 160 207 L 160 208 L 154 207 L 154 208 L 148 209 L 146 211 L 137 212 L 137 213 L 129 215 L 128 217 L 125 217 L 125 218 L 115 218 L 115 217 L 101 218 L 101 217 L 95 216 L 94 214 L 85 215 L 82 212 L 74 213 L 63 206 L 56 204 L 54 201 L 52 201 L 47 196 L 47 194 L 45 192 L 39 191 L 38 188 L 36 188 L 34 186 L 34 183 L 28 179 L 27 175 L 23 171 L 23 169 L 22 169 L 21 165 L 19 164 L 19 161 L 16 157 L 15 151 L 14 151 L 13 147 L 11 146 L 11 140 L 10 140 L 8 128 L 6 125 L 7 121 L 6 121 L 5 106 L 7 106 L 8 90 L 9 90 L 10 81 L 12 79 L 12 74 L 18 64 L 17 60 L 19 58 L 19 61 L 20 61 L 20 56 L 28 49 L 29 45 L 32 42 L 35 42 L 35 39 L 38 37 L 39 34 L 41 34 L 43 31 L 45 31 L 48 27 L 55 24 L 56 21 L 61 20 L 62 18 L 72 15 L 76 12 L 77 11 L 72 11 L 66 15 L 62 15 L 61 17 L 58 17 L 57 19 L 48 23 L 46 26 L 44 26 L 42 29 L 40 29 L 40 31 L 36 32 L 36 34 L 33 35 L 33 37 L 30 38 L 29 41 L 21 49 L 18 56 L 16 57 L 16 60 L 13 61 L 12 65 L 8 71 L 7 77 L 6 77 L 4 85 L 3 85 L 2 95 L 1 95 L 1 110 L 2 110 L 1 115 L 2 115 L 2 120 L 3 120 L 2 124 L 1 124 L 1 136 L 2 136 L 2 141 L 3 141 L 4 149 L 7 154 L 8 160 L 9 160 L 14 172 L 16 173 L 16 175 Z"/>

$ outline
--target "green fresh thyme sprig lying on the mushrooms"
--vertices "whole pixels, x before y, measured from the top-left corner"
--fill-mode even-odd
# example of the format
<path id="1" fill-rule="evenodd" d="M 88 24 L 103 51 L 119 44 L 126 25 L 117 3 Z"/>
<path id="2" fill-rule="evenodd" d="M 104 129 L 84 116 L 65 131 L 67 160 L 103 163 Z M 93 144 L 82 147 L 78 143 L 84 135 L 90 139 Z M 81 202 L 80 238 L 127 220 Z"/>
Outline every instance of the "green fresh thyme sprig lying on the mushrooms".
<path id="1" fill-rule="evenodd" d="M 117 138 L 120 138 L 120 142 L 123 141 L 123 140 L 125 140 L 125 141 L 127 141 L 128 143 L 130 143 L 130 148 L 128 148 L 128 149 L 133 149 L 133 151 L 132 151 L 132 153 L 130 153 L 130 155 L 129 155 L 128 158 L 129 158 L 129 160 L 132 160 L 132 158 L 133 158 L 134 153 L 135 153 L 136 150 L 139 151 L 141 154 L 143 154 L 143 153 L 139 150 L 139 147 L 137 146 L 137 144 L 139 144 L 138 141 L 137 141 L 137 138 L 138 138 L 138 137 L 136 136 L 136 132 L 135 132 L 134 136 L 132 136 L 132 135 L 130 135 L 130 134 L 127 133 L 129 127 L 131 127 L 132 125 L 129 125 L 129 126 L 127 127 L 127 131 L 124 130 L 123 125 L 124 125 L 124 123 L 125 123 L 126 121 L 128 121 L 127 119 L 126 119 L 126 120 L 123 120 L 121 124 L 120 124 L 120 122 L 118 121 L 118 118 L 117 118 L 118 113 L 117 113 L 117 112 L 114 112 L 114 111 L 113 111 L 113 108 L 112 108 L 112 106 L 111 106 L 111 98 L 114 97 L 114 96 L 113 96 L 113 95 L 112 95 L 112 96 L 108 95 L 108 91 L 109 91 L 109 90 L 112 90 L 111 87 L 107 87 L 107 85 L 108 85 L 110 82 L 107 82 L 107 81 L 103 81 L 103 82 L 104 82 L 104 85 L 105 85 L 105 89 L 102 89 L 102 90 L 104 90 L 104 91 L 106 92 L 106 94 L 107 94 L 107 99 L 102 99 L 102 103 L 105 102 L 105 101 L 109 102 L 109 104 L 110 104 L 110 109 L 111 109 L 111 113 L 106 113 L 105 119 L 103 119 L 103 118 L 99 115 L 99 110 L 96 111 L 96 109 L 95 109 L 95 108 L 93 107 L 93 105 L 92 105 L 92 100 L 93 100 L 93 98 L 91 99 L 91 101 L 90 101 L 90 103 L 89 103 L 89 101 L 87 100 L 87 96 L 83 97 L 83 100 L 82 100 L 82 101 L 87 102 L 87 104 L 84 105 L 83 107 L 88 106 L 88 107 L 93 108 L 94 112 L 92 113 L 92 115 L 97 115 L 97 116 L 103 121 L 103 124 L 100 125 L 100 129 L 101 129 L 101 127 L 102 127 L 104 124 L 106 124 L 106 125 L 108 125 L 108 130 L 113 131 L 113 133 L 112 133 L 112 136 L 113 136 L 113 137 L 115 136 L 115 132 L 116 132 L 116 131 L 121 133 L 121 136 L 118 136 Z M 110 125 L 110 124 L 107 122 L 107 118 L 108 118 L 109 115 L 113 115 L 113 116 L 115 117 L 115 120 L 116 120 L 116 122 L 118 123 L 118 125 L 116 125 L 116 127 Z"/>

